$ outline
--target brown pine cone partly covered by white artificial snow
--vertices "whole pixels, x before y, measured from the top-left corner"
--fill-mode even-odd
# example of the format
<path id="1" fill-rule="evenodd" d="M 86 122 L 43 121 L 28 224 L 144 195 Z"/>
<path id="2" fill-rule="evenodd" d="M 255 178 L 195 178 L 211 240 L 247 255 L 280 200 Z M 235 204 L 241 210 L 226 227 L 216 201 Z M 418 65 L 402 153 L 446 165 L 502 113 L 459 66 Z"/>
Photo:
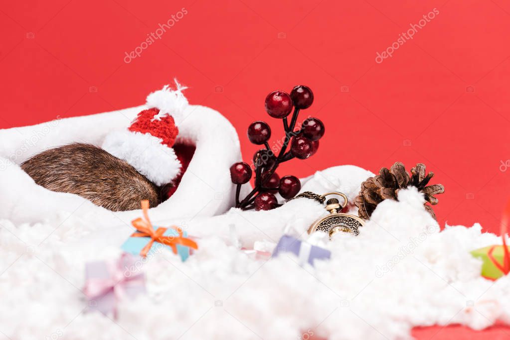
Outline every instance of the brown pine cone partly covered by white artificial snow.
<path id="1" fill-rule="evenodd" d="M 358 215 L 368 219 L 380 202 L 386 199 L 397 200 L 398 190 L 408 186 L 417 187 L 431 205 L 438 204 L 438 199 L 434 195 L 443 193 L 445 188 L 442 184 L 427 186 L 432 176 L 434 176 L 432 172 L 425 175 L 425 164 L 423 163 L 418 163 L 411 169 L 411 177 L 405 171 L 404 164 L 400 162 L 393 164 L 389 170 L 386 167 L 381 168 L 379 175 L 370 177 L 361 184 L 360 193 L 354 200 L 354 204 L 358 207 Z M 426 203 L 425 210 L 436 219 L 432 207 Z"/>

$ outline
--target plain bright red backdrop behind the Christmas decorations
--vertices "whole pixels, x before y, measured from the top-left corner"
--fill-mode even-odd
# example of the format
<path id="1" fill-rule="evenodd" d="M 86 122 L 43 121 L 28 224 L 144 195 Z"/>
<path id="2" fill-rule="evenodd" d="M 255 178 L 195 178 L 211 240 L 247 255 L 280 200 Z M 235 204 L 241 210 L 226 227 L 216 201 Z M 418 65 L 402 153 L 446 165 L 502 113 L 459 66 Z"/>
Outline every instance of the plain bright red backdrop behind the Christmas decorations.
<path id="1" fill-rule="evenodd" d="M 124 63 L 183 8 L 161 40 Z M 375 63 L 434 8 L 413 40 Z M 302 115 L 320 118 L 326 134 L 316 155 L 280 175 L 424 162 L 446 187 L 441 224 L 498 231 L 510 176 L 500 170 L 510 159 L 508 2 L 3 2 L 0 27 L 2 128 L 139 105 L 177 77 L 191 103 L 236 126 L 249 160 L 257 150 L 245 135 L 250 122 L 267 119 L 282 134 L 265 114 L 267 93 L 307 84 L 315 102 Z"/>

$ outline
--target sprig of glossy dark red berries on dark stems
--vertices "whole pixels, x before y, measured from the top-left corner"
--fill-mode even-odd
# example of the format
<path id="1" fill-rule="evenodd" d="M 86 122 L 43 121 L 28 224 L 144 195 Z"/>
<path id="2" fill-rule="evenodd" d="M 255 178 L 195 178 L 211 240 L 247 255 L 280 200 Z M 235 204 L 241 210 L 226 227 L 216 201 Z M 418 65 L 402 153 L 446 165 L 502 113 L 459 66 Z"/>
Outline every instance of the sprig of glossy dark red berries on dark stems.
<path id="1" fill-rule="evenodd" d="M 237 184 L 236 207 L 243 210 L 270 210 L 278 207 L 274 193 L 291 199 L 301 189 L 301 182 L 295 176 L 287 175 L 282 178 L 276 174 L 280 163 L 292 158 L 307 159 L 317 152 L 319 139 L 324 135 L 324 124 L 317 118 L 307 118 L 300 129 L 294 131 L 299 110 L 310 107 L 314 101 L 314 94 L 306 86 L 296 86 L 290 95 L 284 91 L 273 91 L 266 97 L 266 111 L 273 118 L 282 119 L 285 129 L 285 139 L 282 148 L 276 156 L 269 147 L 271 128 L 266 122 L 256 121 L 248 127 L 248 139 L 253 144 L 264 145 L 265 149 L 253 155 L 255 172 L 255 187 L 243 200 L 239 200 L 241 185 L 249 182 L 252 169 L 245 162 L 238 162 L 230 167 L 232 182 Z M 294 108 L 292 118 L 289 116 Z M 287 147 L 290 144 L 290 151 Z"/>

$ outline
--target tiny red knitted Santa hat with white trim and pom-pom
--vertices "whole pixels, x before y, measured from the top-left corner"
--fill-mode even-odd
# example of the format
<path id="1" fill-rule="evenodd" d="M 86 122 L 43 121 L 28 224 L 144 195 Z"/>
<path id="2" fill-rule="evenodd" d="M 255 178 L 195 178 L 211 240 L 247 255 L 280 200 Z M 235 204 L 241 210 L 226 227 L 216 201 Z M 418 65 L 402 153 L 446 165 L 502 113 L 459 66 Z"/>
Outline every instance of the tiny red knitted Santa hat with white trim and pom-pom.
<path id="1" fill-rule="evenodd" d="M 173 150 L 188 100 L 187 89 L 175 80 L 176 90 L 168 85 L 147 96 L 146 110 L 141 111 L 127 131 L 109 133 L 103 149 L 131 164 L 156 185 L 163 185 L 181 172 L 181 162 Z"/>

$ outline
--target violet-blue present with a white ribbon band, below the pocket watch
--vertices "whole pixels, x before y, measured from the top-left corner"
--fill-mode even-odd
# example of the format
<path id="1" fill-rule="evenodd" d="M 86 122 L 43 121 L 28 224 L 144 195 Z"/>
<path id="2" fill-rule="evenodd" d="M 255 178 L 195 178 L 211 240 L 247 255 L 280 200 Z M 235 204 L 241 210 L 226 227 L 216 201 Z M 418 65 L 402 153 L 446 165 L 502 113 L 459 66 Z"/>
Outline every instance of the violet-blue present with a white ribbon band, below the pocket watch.
<path id="1" fill-rule="evenodd" d="M 273 257 L 282 252 L 292 252 L 296 254 L 299 264 L 309 263 L 314 265 L 314 260 L 329 259 L 331 252 L 327 249 L 312 245 L 308 242 L 300 241 L 290 235 L 284 235 L 278 241 L 273 251 Z"/>

